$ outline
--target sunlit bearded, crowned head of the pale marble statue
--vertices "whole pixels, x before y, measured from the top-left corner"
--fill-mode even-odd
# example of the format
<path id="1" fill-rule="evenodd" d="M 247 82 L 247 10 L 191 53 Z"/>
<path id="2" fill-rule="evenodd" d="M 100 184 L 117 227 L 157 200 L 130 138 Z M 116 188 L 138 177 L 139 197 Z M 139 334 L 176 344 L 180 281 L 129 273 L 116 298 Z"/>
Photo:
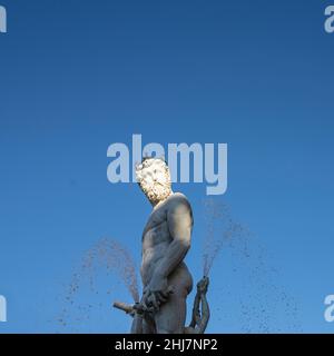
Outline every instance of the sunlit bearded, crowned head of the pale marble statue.
<path id="1" fill-rule="evenodd" d="M 144 158 L 141 164 L 136 166 L 136 179 L 154 206 L 173 194 L 169 168 L 161 158 Z"/>

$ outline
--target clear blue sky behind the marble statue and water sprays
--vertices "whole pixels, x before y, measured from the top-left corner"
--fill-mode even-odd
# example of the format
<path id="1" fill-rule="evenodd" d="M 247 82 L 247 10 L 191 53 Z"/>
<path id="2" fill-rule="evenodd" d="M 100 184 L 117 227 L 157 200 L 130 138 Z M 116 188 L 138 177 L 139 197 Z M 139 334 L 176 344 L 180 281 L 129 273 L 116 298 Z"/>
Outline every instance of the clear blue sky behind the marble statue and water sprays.
<path id="1" fill-rule="evenodd" d="M 217 199 L 250 230 L 253 253 L 248 263 L 226 248 L 215 261 L 208 332 L 334 332 L 323 317 L 334 294 L 331 2 L 0 3 L 0 333 L 128 330 L 110 304 L 130 295 L 102 273 L 99 295 L 84 287 L 76 297 L 92 305 L 87 319 L 59 326 L 57 316 L 99 238 L 139 263 L 149 204 L 136 185 L 106 178 L 107 147 L 132 134 L 228 144 L 228 190 Z M 187 261 L 197 280 L 205 186 L 175 190 L 194 208 Z"/>

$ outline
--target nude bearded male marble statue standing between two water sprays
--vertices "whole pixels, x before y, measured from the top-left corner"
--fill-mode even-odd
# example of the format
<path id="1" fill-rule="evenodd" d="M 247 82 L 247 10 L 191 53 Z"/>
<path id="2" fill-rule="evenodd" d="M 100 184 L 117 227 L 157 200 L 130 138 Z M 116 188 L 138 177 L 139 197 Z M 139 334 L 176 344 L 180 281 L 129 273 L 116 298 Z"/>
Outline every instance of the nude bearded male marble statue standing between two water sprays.
<path id="1" fill-rule="evenodd" d="M 191 207 L 183 194 L 173 192 L 163 159 L 144 159 L 136 178 L 153 211 L 143 233 L 140 308 L 146 313 L 134 316 L 132 333 L 183 334 L 186 298 L 193 288 L 184 263 L 190 248 Z"/>

